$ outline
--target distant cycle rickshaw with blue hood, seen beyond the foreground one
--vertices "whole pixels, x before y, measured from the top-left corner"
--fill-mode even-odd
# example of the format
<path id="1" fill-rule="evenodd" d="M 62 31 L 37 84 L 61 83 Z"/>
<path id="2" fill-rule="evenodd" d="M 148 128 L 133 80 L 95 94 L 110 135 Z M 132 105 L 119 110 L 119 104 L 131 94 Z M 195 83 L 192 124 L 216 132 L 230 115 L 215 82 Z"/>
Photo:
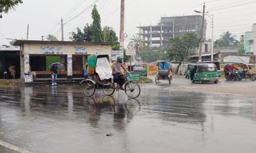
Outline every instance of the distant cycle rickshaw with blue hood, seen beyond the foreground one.
<path id="1" fill-rule="evenodd" d="M 159 80 L 168 80 L 169 84 L 172 82 L 172 69 L 169 61 L 157 61 L 158 72 L 155 78 L 156 84 Z"/>

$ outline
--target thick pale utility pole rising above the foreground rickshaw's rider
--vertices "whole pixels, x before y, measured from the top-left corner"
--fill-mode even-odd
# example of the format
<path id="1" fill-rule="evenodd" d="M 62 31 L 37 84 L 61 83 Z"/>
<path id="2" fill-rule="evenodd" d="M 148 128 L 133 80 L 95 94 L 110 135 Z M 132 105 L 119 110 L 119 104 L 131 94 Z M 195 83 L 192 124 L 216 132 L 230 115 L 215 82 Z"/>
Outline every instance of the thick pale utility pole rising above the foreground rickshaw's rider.
<path id="1" fill-rule="evenodd" d="M 121 12 L 120 12 L 120 50 L 124 50 L 124 9 L 125 2 L 121 0 Z"/>

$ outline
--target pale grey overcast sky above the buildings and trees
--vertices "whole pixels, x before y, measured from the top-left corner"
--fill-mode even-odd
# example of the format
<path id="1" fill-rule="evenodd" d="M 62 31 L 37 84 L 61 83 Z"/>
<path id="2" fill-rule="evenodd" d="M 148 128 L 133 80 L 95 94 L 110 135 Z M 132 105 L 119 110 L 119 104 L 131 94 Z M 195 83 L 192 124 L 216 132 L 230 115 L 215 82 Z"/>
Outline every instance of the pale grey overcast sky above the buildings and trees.
<path id="1" fill-rule="evenodd" d="M 120 0 L 24 0 L 15 11 L 0 19 L 0 45 L 9 45 L 6 38 L 41 40 L 41 36 L 54 34 L 61 39 L 60 20 L 64 19 L 65 40 L 69 40 L 76 27 L 92 23 L 92 5 L 97 4 L 102 27 L 111 26 L 119 34 Z M 239 36 L 256 23 L 255 0 L 125 0 L 125 33 L 129 38 L 138 33 L 139 25 L 155 25 L 161 16 L 195 15 L 205 2 L 209 15 L 214 13 L 214 39 L 230 31 Z M 72 19 L 72 20 L 71 20 Z M 211 20 L 207 19 L 207 38 L 211 38 Z"/>

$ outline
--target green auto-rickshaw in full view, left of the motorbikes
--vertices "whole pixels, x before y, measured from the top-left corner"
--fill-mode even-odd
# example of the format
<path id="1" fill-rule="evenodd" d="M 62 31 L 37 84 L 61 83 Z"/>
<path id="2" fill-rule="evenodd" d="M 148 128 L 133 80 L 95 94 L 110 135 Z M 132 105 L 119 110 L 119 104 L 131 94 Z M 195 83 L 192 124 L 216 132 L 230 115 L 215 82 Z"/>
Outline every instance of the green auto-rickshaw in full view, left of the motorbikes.
<path id="1" fill-rule="evenodd" d="M 214 82 L 217 84 L 219 81 L 218 69 L 213 63 L 194 64 L 190 75 L 193 83 L 200 82 L 200 84 L 203 84 L 204 82 Z"/>

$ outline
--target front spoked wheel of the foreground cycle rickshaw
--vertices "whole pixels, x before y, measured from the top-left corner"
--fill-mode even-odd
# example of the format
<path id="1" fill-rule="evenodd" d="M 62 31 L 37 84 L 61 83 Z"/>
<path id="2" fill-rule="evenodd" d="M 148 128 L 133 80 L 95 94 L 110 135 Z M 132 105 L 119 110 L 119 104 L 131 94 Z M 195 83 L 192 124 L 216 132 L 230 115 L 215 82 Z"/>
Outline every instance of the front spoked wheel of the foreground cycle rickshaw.
<path id="1" fill-rule="evenodd" d="M 135 82 L 127 82 L 124 85 L 124 90 L 129 98 L 138 98 L 140 96 L 140 85 Z"/>

